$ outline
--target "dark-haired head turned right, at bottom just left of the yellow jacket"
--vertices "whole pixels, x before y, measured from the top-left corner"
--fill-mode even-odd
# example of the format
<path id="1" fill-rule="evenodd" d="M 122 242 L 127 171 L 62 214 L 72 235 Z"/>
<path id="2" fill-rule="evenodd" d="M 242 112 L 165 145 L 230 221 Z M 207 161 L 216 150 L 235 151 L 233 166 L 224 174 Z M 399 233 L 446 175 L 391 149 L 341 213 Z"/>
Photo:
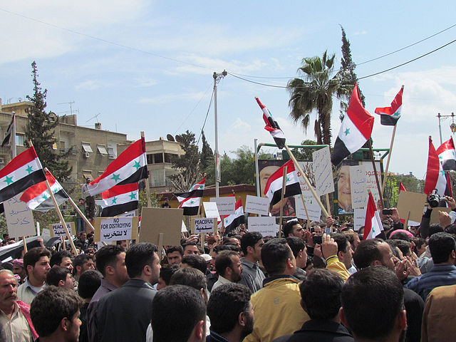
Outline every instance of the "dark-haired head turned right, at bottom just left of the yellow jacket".
<path id="1" fill-rule="evenodd" d="M 207 316 L 211 320 L 207 342 L 241 342 L 254 328 L 252 292 L 241 284 L 223 284 L 211 292 Z"/>

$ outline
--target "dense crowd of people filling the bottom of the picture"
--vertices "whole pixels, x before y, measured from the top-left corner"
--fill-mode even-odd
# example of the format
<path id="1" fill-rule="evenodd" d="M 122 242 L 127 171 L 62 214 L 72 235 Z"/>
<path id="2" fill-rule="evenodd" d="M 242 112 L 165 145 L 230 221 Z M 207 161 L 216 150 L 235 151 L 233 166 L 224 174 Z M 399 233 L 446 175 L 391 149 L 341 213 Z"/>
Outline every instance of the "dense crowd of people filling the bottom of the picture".
<path id="1" fill-rule="evenodd" d="M 291 219 L 280 237 L 98 249 L 83 232 L 77 257 L 35 247 L 1 265 L 0 340 L 451 340 L 456 224 L 442 212 L 430 224 L 428 208 L 420 226 L 404 227 L 391 212 L 366 240 L 350 220 L 327 217 Z"/>

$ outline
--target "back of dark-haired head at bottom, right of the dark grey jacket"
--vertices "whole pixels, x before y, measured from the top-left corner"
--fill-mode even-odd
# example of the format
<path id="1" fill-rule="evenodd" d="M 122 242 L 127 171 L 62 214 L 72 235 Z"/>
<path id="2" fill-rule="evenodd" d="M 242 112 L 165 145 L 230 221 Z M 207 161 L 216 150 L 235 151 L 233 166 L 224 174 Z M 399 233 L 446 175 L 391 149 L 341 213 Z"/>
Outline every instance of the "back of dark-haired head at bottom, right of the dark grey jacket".
<path id="1" fill-rule="evenodd" d="M 154 342 L 204 341 L 205 322 L 206 304 L 200 292 L 190 286 L 167 286 L 152 301 Z"/>

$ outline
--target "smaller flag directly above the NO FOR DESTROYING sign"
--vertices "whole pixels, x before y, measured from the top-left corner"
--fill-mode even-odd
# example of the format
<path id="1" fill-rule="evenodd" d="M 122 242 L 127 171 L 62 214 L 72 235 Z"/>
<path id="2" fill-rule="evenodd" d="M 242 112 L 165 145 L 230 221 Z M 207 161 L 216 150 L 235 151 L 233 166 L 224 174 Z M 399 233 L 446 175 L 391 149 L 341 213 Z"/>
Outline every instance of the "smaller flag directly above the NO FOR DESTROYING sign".
<path id="1" fill-rule="evenodd" d="M 101 193 L 102 217 L 113 217 L 138 209 L 138 183 L 117 185 Z"/>

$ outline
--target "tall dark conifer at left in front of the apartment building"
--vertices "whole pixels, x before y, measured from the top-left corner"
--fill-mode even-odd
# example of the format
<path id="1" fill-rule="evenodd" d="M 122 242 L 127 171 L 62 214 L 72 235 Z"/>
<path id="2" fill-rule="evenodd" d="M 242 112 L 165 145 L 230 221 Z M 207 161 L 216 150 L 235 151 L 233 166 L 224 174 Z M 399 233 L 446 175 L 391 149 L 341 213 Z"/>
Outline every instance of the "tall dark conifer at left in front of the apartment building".
<path id="1" fill-rule="evenodd" d="M 36 154 L 41 160 L 41 165 L 47 167 L 59 181 L 65 181 L 70 177 L 73 168 L 69 165 L 68 157 L 70 150 L 65 153 L 53 150 L 56 138 L 53 138 L 55 128 L 58 125 L 58 116 L 46 113 L 46 95 L 48 90 L 41 91 L 38 82 L 38 69 L 36 62 L 31 63 L 33 77 L 33 95 L 27 99 L 33 103 L 33 106 L 26 110 L 28 123 L 26 125 L 26 140 L 33 142 Z"/>

